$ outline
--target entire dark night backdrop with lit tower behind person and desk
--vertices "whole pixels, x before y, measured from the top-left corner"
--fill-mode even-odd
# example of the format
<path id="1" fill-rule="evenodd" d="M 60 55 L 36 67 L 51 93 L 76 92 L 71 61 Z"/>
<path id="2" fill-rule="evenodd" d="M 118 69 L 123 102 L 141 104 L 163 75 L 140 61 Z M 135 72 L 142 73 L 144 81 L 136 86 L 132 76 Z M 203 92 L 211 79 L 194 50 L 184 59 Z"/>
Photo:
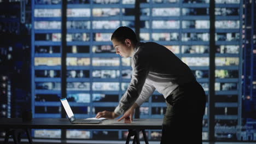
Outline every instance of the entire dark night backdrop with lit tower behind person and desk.
<path id="1" fill-rule="evenodd" d="M 203 143 L 256 143 L 255 0 L 0 0 L 0 119 L 67 118 L 62 97 L 77 118 L 114 111 L 132 77 L 131 58 L 117 55 L 110 40 L 120 26 L 189 66 L 207 96 Z M 134 118 L 165 112 L 155 91 Z M 33 143 L 125 143 L 129 135 L 29 130 Z M 6 134 L 0 128 L 1 142 Z M 26 131 L 20 134 L 28 143 Z M 160 143 L 161 129 L 146 129 L 146 137 Z M 144 143 L 142 132 L 139 139 Z"/>

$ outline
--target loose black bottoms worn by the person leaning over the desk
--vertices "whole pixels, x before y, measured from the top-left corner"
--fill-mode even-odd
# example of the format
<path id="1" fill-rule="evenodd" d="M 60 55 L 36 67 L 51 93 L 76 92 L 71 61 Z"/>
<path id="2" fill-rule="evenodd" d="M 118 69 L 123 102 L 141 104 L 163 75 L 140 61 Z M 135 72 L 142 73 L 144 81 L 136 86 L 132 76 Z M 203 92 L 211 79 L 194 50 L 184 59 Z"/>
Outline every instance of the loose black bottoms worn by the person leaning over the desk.
<path id="1" fill-rule="evenodd" d="M 191 82 L 174 89 L 166 98 L 161 144 L 202 143 L 202 119 L 206 95 L 201 85 Z"/>

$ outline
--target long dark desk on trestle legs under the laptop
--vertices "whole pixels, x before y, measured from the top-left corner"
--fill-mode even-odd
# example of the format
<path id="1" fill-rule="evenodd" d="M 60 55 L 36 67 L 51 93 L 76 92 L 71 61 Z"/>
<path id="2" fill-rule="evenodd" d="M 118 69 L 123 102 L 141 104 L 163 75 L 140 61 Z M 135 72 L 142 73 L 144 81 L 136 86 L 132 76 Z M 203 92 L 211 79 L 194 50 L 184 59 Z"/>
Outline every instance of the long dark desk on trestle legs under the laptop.
<path id="1" fill-rule="evenodd" d="M 67 118 L 33 118 L 31 122 L 22 122 L 21 118 L 0 118 L 0 128 L 25 129 L 30 143 L 32 143 L 30 129 L 128 129 L 126 143 L 129 143 L 130 137 L 134 135 L 133 143 L 139 144 L 139 131 L 142 131 L 144 140 L 148 143 L 145 129 L 162 129 L 162 121 L 162 119 L 133 119 L 132 123 L 124 123 L 124 121 L 118 122 L 117 119 L 106 119 L 99 124 L 71 124 Z"/>

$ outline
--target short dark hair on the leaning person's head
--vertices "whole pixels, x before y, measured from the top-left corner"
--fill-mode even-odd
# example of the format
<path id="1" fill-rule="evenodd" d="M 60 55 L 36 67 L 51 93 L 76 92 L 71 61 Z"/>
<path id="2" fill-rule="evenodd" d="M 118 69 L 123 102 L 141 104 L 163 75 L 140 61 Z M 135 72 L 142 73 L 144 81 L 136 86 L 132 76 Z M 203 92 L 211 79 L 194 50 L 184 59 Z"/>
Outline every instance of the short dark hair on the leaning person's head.
<path id="1" fill-rule="evenodd" d="M 121 43 L 124 43 L 126 39 L 130 39 L 133 44 L 138 43 L 135 32 L 129 27 L 119 27 L 116 29 L 111 36 L 111 40 L 113 39 L 116 39 Z"/>

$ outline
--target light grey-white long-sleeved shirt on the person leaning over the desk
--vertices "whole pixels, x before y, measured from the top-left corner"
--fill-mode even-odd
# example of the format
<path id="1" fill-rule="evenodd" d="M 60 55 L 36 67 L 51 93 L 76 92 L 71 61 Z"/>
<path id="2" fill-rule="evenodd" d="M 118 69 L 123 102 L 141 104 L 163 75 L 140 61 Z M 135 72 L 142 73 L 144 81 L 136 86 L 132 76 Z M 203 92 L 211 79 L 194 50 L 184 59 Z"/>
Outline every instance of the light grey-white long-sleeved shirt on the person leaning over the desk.
<path id="1" fill-rule="evenodd" d="M 118 115 L 134 103 L 141 105 L 155 89 L 166 98 L 179 85 L 195 80 L 187 64 L 157 43 L 136 44 L 131 61 L 132 79 L 114 110 Z"/>

